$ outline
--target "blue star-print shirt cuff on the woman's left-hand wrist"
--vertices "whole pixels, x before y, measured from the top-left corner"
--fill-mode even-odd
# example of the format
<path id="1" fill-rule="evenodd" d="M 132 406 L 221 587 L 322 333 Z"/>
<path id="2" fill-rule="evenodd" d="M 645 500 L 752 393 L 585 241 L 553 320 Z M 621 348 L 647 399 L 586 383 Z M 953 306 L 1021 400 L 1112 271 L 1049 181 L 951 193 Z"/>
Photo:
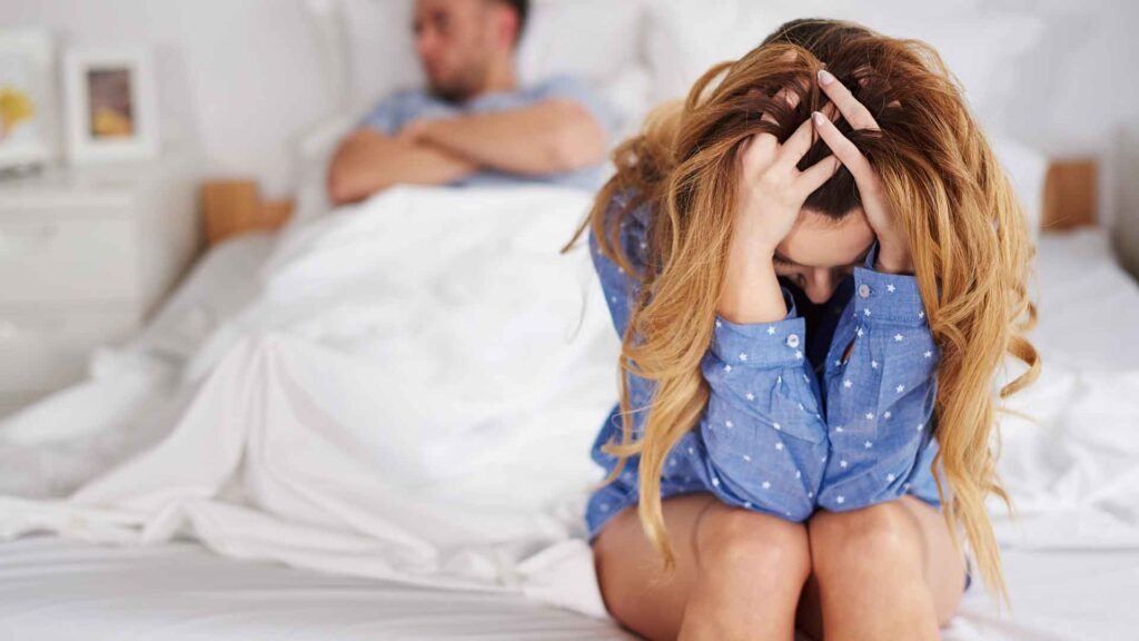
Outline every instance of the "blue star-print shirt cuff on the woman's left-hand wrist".
<path id="1" fill-rule="evenodd" d="M 795 308 L 795 297 L 780 285 L 787 316 L 771 323 L 732 323 L 716 314 L 712 354 L 724 367 L 802 365 L 806 350 L 806 319 Z"/>

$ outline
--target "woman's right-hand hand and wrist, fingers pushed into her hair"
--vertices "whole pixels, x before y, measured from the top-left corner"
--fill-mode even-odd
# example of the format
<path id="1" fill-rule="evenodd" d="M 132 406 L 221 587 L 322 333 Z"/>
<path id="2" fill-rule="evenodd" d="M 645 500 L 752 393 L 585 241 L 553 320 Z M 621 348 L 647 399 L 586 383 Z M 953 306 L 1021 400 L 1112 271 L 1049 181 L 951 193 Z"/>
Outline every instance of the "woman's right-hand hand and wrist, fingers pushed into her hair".
<path id="1" fill-rule="evenodd" d="M 851 127 L 854 129 L 878 129 L 878 123 L 875 122 L 870 112 L 854 98 L 850 89 L 843 87 L 843 83 L 838 82 L 826 70 L 819 70 L 819 87 L 835 104 L 846 122 L 851 123 Z M 854 184 L 862 197 L 862 209 L 866 211 L 870 228 L 878 237 L 878 260 L 875 269 L 892 274 L 912 274 L 913 262 L 910 254 L 909 236 L 906 234 L 896 212 L 886 202 L 878 172 L 862 155 L 862 152 L 838 131 L 827 114 L 814 112 L 811 120 L 814 121 L 814 129 L 830 147 L 831 153 L 854 176 Z"/>

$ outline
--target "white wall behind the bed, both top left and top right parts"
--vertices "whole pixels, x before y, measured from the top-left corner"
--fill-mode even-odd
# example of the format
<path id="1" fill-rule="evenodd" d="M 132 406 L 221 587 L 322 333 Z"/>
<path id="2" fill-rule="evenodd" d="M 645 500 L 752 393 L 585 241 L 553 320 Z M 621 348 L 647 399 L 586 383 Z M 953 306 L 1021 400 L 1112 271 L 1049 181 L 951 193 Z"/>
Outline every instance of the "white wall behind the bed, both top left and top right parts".
<path id="1" fill-rule="evenodd" d="M 713 19 L 714 7 L 735 7 L 730 34 L 703 35 L 710 59 L 759 41 L 765 34 L 759 25 L 804 15 L 850 17 L 917 38 L 924 25 L 935 31 L 953 23 L 962 38 L 978 42 L 997 21 L 1032 18 L 1025 24 L 1042 30 L 1040 38 L 1014 68 L 998 70 L 995 87 L 983 89 L 984 120 L 1051 155 L 1099 157 L 1101 220 L 1120 232 L 1121 253 L 1139 274 L 1139 203 L 1129 187 L 1139 179 L 1139 83 L 1132 70 L 1139 60 L 1139 3 L 650 1 L 695 7 L 691 29 L 714 30 L 723 24 Z M 153 44 L 166 135 L 198 145 L 211 172 L 257 176 L 273 194 L 290 186 L 290 141 L 331 108 L 302 0 L 0 0 L 0 25 L 49 26 L 69 43 Z M 898 33 L 900 25 L 912 33 Z M 978 46 L 976 57 L 959 66 L 984 65 L 985 56 Z"/>

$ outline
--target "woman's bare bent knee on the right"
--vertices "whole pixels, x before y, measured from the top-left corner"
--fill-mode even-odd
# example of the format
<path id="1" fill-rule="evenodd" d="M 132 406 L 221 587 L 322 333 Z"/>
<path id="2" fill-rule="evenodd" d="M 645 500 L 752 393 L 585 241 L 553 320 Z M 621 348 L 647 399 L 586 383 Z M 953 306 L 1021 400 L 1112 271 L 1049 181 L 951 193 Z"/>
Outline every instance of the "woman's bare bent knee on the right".
<path id="1" fill-rule="evenodd" d="M 941 513 L 911 495 L 808 522 L 812 574 L 800 628 L 814 639 L 939 639 L 965 587 Z"/>

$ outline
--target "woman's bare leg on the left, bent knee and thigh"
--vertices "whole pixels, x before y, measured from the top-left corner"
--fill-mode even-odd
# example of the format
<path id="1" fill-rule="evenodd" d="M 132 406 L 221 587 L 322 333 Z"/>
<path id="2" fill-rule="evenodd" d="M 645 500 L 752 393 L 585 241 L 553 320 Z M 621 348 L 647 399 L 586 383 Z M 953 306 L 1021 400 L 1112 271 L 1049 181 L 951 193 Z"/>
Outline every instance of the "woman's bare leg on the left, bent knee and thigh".
<path id="1" fill-rule="evenodd" d="M 665 574 L 637 508 L 593 543 L 609 612 L 648 639 L 790 641 L 810 574 L 806 527 L 731 508 L 708 493 L 665 498 L 677 571 Z"/>

